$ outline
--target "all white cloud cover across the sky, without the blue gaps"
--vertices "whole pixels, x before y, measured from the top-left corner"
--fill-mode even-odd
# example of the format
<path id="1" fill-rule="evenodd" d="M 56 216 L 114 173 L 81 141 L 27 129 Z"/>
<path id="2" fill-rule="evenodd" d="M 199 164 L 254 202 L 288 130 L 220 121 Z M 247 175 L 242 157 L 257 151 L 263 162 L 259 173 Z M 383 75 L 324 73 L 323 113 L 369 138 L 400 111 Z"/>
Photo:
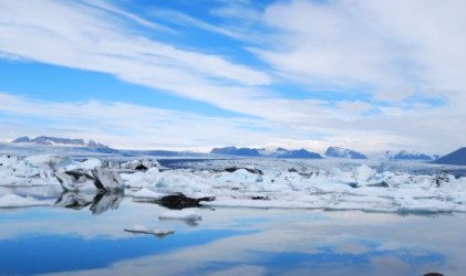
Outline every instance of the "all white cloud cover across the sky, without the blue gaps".
<path id="1" fill-rule="evenodd" d="M 230 127 L 221 128 L 225 119 L 200 116 L 203 119 L 199 121 L 214 121 L 217 128 L 195 128 L 189 139 L 182 142 L 167 137 L 179 136 L 184 129 L 175 130 L 176 127 L 189 125 L 190 120 L 186 117 L 191 115 L 184 113 L 166 115 L 168 110 L 163 110 L 160 115 L 159 109 L 147 110 L 158 119 L 179 116 L 180 121 L 172 118 L 169 124 L 173 125 L 167 123 L 162 126 L 160 120 L 141 120 L 147 115 L 137 112 L 138 106 L 121 103 L 60 105 L 17 98 L 19 103 L 11 106 L 2 104 L 3 112 L 19 117 L 37 116 L 39 112 L 30 112 L 35 105 L 52 106 L 51 110 L 55 114 L 48 108 L 37 109 L 43 112 L 43 118 L 50 119 L 61 117 L 60 113 L 70 107 L 75 112 L 65 113 L 63 121 L 50 127 L 50 131 L 70 129 L 71 126 L 74 131 L 92 135 L 93 138 L 102 135 L 103 141 L 118 146 L 122 141 L 117 138 L 103 135 L 100 128 L 81 121 L 95 124 L 91 115 L 102 117 L 107 123 L 105 127 L 113 127 L 108 134 L 115 135 L 118 127 L 128 127 L 128 121 L 112 121 L 116 118 L 112 112 L 127 109 L 125 114 L 133 118 L 133 124 L 137 123 L 130 127 L 127 137 L 137 135 L 139 138 L 134 139 L 134 145 L 141 147 L 185 147 L 189 144 L 193 144 L 189 147 L 205 147 L 209 142 L 210 146 L 261 146 L 287 141 L 288 145 L 306 148 L 329 145 L 369 150 L 395 147 L 446 152 L 464 146 L 466 134 L 462 129 L 466 127 L 466 96 L 463 87 L 466 83 L 463 76 L 466 74 L 466 57 L 462 49 L 466 46 L 466 39 L 460 31 L 466 21 L 462 18 L 462 2 L 352 0 L 317 4 L 297 0 L 272 3 L 265 11 L 249 9 L 247 12 L 247 7 L 248 2 L 227 3 L 213 13 L 238 20 L 238 11 L 242 11 L 241 14 L 253 14 L 247 17 L 245 25 L 262 24 L 270 30 L 260 39 L 268 43 L 251 50 L 270 65 L 267 72 L 205 53 L 206 50 L 196 52 L 170 45 L 155 40 L 157 35 L 145 36 L 143 30 L 133 29 L 126 21 L 154 32 L 160 30 L 164 34 L 170 30 L 104 1 L 87 4 L 0 1 L 0 57 L 107 73 L 130 83 L 252 115 L 258 119 L 234 119 L 230 123 L 235 127 L 227 124 Z M 178 15 L 184 18 L 185 23 L 191 22 L 209 32 L 230 30 L 213 29 L 211 24 Z M 255 36 L 258 30 L 253 29 L 252 35 L 238 33 L 238 38 Z M 364 93 L 373 92 L 374 97 L 366 100 L 358 97 L 354 100 L 340 100 L 338 97 L 332 100 L 290 99 L 275 92 L 276 79 L 288 79 L 293 85 L 310 89 L 330 87 L 355 95 L 363 87 Z M 422 102 L 397 103 L 410 95 L 423 94 L 441 97 L 446 105 L 433 107 Z M 381 102 L 392 103 L 380 105 Z M 9 110 L 15 105 L 24 107 Z M 105 112 L 93 112 L 101 108 Z M 137 118 L 130 114 L 134 110 Z M 366 116 L 367 112 L 373 113 L 372 117 Z M 250 130 L 249 124 L 257 125 L 257 129 Z M 24 125 L 28 125 L 25 120 Z M 164 130 L 163 137 L 147 130 L 154 129 L 154 126 Z M 18 126 L 9 126 L 3 120 L 2 130 L 6 128 L 18 130 Z M 28 128 L 21 129 L 25 131 Z M 216 139 L 207 135 L 213 131 L 217 131 Z"/>

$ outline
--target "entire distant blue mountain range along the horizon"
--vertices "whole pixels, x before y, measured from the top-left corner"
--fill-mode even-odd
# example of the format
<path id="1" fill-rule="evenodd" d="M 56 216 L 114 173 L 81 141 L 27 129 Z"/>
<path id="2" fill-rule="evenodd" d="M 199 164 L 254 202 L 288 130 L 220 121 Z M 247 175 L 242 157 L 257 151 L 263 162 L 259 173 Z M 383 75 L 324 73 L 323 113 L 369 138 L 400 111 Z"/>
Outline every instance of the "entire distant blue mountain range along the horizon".
<path id="1" fill-rule="evenodd" d="M 20 148 L 15 147 L 10 149 L 8 144 L 0 145 L 0 151 L 10 152 L 12 150 L 29 150 L 32 152 L 39 151 L 66 151 L 75 152 L 80 155 L 87 153 L 104 153 L 104 155 L 117 155 L 117 156 L 157 156 L 157 157 L 205 157 L 206 153 L 188 152 L 188 151 L 173 151 L 173 150 L 118 150 L 110 148 L 100 142 L 84 139 L 71 139 L 60 138 L 51 136 L 38 136 L 30 138 L 28 136 L 19 137 L 11 141 L 11 145 L 21 145 Z M 37 146 L 35 146 L 37 145 Z M 24 148 L 27 146 L 27 148 Z M 65 147 L 63 147 L 65 146 Z M 21 149 L 22 148 L 22 149 Z M 41 149 L 42 148 L 42 149 Z M 211 155 L 218 156 L 237 156 L 237 157 L 268 157 L 268 158 L 290 158 L 290 159 L 322 159 L 323 157 L 317 152 L 312 152 L 306 149 L 289 150 L 284 148 L 277 148 L 273 150 L 266 150 L 263 148 L 237 148 L 237 147 L 224 147 L 214 148 L 210 151 Z M 361 152 L 352 149 L 329 147 L 325 150 L 325 157 L 330 158 L 348 158 L 348 159 L 367 159 L 367 157 Z M 458 164 L 466 166 L 466 147 L 455 150 L 442 158 L 438 156 L 429 156 L 426 153 L 415 151 L 386 151 L 384 159 L 387 160 L 421 160 L 432 161 L 432 163 L 438 164 Z"/>

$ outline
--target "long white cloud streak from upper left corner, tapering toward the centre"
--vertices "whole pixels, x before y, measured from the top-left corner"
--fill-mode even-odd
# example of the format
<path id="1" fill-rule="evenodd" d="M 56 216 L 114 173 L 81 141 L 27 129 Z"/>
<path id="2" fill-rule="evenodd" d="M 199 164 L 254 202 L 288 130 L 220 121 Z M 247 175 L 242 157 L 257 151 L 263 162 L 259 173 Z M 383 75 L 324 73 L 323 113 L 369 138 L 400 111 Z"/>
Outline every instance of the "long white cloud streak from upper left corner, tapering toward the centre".
<path id="1" fill-rule="evenodd" d="M 208 78 L 244 85 L 270 83 L 266 74 L 222 57 L 134 35 L 113 13 L 87 6 L 61 1 L 3 1 L 0 7 L 3 38 L 0 49 L 6 53 L 122 77 L 128 67 L 136 67 L 147 70 L 144 75 L 160 83 L 175 84 L 175 79 L 177 83 L 180 79 L 204 83 Z"/>

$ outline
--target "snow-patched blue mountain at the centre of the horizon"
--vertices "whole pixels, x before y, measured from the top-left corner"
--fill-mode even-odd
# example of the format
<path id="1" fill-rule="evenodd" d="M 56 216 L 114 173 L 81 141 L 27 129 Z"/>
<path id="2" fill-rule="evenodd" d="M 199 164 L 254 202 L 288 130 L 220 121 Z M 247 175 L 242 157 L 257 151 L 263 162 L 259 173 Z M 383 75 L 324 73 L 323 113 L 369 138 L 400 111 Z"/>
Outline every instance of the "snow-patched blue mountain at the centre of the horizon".
<path id="1" fill-rule="evenodd" d="M 284 148 L 277 148 L 272 151 L 256 148 L 214 148 L 210 153 L 228 155 L 239 157 L 270 157 L 270 158 L 293 158 L 293 159 L 322 159 L 319 153 L 308 151 L 306 149 L 288 150 Z"/>

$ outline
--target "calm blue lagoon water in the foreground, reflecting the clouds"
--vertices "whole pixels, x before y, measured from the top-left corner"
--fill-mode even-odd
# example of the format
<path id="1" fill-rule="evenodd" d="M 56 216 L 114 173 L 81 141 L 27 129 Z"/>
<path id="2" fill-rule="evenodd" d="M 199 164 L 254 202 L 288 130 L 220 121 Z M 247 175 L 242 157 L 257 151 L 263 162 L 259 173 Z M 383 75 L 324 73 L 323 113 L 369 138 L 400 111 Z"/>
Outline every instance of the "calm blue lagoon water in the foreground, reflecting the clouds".
<path id="1" fill-rule="evenodd" d="M 102 202 L 101 202 L 102 203 Z M 77 208 L 77 206 L 75 206 Z M 164 208 L 0 210 L 0 275 L 465 275 L 466 215 Z M 96 211 L 97 212 L 96 212 Z M 135 224 L 175 230 L 158 238 Z"/>

